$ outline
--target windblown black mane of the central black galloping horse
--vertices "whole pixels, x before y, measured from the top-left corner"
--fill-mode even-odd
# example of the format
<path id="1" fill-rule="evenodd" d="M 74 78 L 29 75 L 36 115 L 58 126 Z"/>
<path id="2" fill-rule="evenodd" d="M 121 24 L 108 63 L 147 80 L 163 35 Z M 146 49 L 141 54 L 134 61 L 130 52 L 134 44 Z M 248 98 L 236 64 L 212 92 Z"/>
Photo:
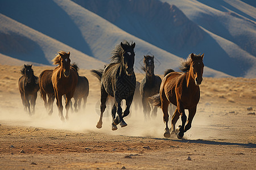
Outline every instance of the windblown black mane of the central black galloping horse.
<path id="1" fill-rule="evenodd" d="M 123 41 L 123 44 L 127 45 L 129 48 L 131 48 L 131 45 L 133 44 L 133 41 L 130 43 L 126 40 Z M 122 59 L 122 53 L 125 50 L 122 49 L 120 44 L 115 45 L 115 48 L 112 51 L 113 56 L 111 57 L 111 63 L 121 63 Z"/>

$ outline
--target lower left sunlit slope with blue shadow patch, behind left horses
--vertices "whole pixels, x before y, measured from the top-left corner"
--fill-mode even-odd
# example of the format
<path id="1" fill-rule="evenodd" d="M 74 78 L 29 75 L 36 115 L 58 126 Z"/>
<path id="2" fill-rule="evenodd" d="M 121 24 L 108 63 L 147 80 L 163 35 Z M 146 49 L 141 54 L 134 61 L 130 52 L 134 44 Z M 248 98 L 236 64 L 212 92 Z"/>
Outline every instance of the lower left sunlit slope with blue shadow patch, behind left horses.
<path id="1" fill-rule="evenodd" d="M 104 64 L 2 14 L 0 37 L 0 53 L 22 61 L 51 65 L 55 54 L 65 50 L 71 51 L 71 61 L 79 63 L 82 68 L 90 69 L 98 67 L 99 63 Z"/>

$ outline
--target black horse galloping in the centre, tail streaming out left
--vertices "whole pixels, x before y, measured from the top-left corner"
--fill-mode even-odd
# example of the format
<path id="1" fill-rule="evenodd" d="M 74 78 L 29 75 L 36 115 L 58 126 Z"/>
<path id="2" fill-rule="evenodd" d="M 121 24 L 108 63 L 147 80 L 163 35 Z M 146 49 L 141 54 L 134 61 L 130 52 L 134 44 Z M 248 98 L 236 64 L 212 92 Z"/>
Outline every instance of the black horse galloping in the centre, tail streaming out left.
<path id="1" fill-rule="evenodd" d="M 130 105 L 136 86 L 134 74 L 134 53 L 135 42 L 121 42 L 115 46 L 110 64 L 104 70 L 92 70 L 94 76 L 101 81 L 101 116 L 97 128 L 102 127 L 102 116 L 106 108 L 106 100 L 109 96 L 114 97 L 112 108 L 112 130 L 117 130 L 117 125 L 127 126 L 123 117 L 130 113 Z M 126 109 L 122 114 L 121 101 L 126 100 Z M 115 117 L 117 112 L 118 116 Z"/>

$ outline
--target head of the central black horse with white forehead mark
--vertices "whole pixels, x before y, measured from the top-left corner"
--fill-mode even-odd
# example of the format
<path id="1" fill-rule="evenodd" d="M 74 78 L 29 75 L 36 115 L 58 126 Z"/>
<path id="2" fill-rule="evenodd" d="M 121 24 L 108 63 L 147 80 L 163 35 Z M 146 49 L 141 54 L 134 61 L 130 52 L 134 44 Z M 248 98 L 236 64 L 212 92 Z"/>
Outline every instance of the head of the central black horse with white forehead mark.
<path id="1" fill-rule="evenodd" d="M 135 60 L 135 42 L 132 45 L 123 44 L 121 42 L 121 48 L 123 49 L 122 53 L 122 65 L 125 68 L 125 72 L 127 75 L 132 75 L 134 73 L 134 60 Z"/>

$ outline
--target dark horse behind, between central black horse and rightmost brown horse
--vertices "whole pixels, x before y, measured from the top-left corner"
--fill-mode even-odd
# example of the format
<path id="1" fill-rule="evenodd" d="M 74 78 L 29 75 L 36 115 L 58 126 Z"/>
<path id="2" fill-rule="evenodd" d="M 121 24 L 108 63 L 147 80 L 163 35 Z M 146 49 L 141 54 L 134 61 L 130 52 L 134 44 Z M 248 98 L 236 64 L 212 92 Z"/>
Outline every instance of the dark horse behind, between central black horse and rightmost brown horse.
<path id="1" fill-rule="evenodd" d="M 142 70 L 145 71 L 146 75 L 141 81 L 141 86 L 139 90 L 142 96 L 144 117 L 149 118 L 151 110 L 151 116 L 156 116 L 158 108 L 150 104 L 150 102 L 148 101 L 148 97 L 154 96 L 155 94 L 159 94 L 162 79 L 158 75 L 154 74 L 154 56 L 144 56 L 143 62 L 144 66 L 142 67 Z"/>

